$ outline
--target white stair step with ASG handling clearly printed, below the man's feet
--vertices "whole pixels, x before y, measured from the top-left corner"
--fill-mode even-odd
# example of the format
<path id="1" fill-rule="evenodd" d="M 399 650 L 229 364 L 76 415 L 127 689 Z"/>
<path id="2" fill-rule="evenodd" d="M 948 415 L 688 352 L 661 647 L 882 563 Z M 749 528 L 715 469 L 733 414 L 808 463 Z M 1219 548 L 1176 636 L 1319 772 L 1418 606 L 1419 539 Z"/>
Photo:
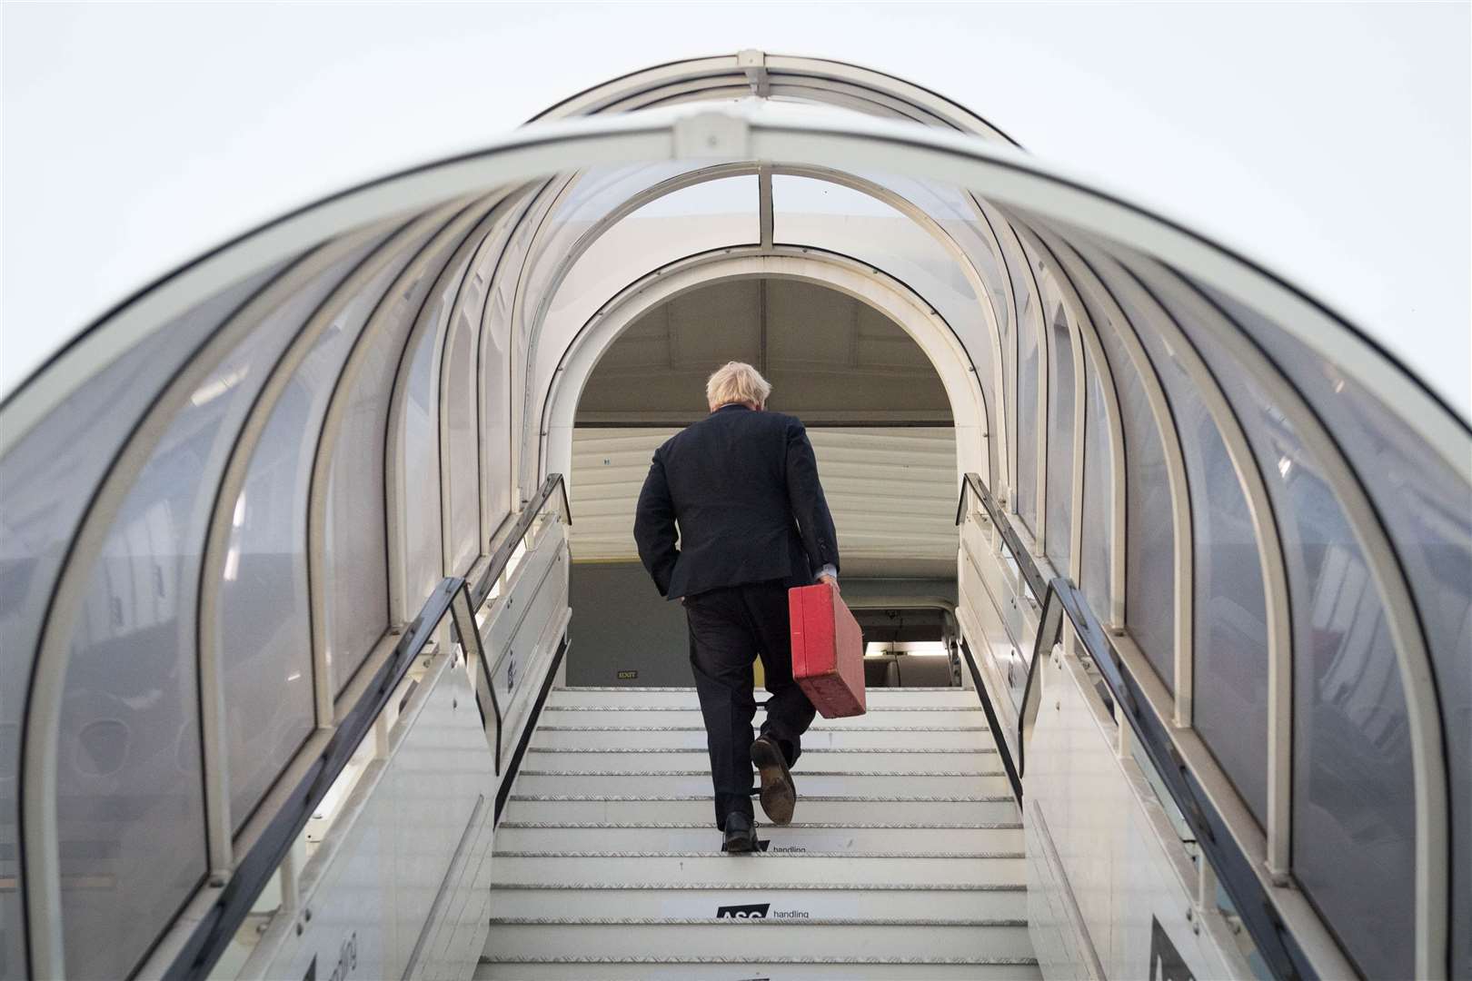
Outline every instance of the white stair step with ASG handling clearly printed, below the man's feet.
<path id="1" fill-rule="evenodd" d="M 1007 919 L 1023 916 L 1027 897 L 1020 884 L 961 882 L 895 887 L 888 882 L 841 885 L 742 885 L 671 880 L 648 887 L 584 884 L 567 887 L 500 885 L 492 893 L 492 916 L 705 916 L 723 906 L 805 912 L 810 916 L 863 918 L 904 910 L 920 919 Z M 748 912 L 755 912 L 748 909 Z"/>

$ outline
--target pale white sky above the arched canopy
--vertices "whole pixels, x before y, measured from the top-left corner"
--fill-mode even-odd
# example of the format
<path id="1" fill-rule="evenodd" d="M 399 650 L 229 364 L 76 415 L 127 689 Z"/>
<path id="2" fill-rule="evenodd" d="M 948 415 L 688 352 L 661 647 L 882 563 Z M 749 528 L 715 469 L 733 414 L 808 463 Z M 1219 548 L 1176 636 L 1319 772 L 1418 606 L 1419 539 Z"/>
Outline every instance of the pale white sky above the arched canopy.
<path id="1" fill-rule="evenodd" d="M 966 104 L 1285 275 L 1466 418 L 1469 37 L 1466 3 L 4 4 L 0 393 L 262 221 L 755 47 Z"/>

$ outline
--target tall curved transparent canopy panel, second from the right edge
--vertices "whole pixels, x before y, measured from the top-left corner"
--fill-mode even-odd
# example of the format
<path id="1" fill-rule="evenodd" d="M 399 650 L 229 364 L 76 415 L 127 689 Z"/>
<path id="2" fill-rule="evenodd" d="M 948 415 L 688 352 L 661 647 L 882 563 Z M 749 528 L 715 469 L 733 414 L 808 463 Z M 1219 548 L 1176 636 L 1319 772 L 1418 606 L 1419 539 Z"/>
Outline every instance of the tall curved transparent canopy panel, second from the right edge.
<path id="1" fill-rule="evenodd" d="M 1220 312 L 1164 271 L 1151 282 L 1209 363 Z M 1248 372 L 1222 372 L 1267 482 L 1297 616 L 1292 871 L 1372 978 L 1415 975 L 1416 794 L 1394 643 L 1365 553 L 1322 462 Z M 1373 902 L 1367 902 L 1373 897 Z"/>

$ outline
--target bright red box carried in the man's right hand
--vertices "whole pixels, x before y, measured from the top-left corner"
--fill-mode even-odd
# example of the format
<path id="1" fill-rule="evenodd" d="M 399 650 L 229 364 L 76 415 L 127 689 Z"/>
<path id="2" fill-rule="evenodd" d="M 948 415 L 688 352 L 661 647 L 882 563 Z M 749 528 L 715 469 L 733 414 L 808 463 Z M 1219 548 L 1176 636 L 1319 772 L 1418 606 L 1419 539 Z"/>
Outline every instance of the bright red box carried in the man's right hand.
<path id="1" fill-rule="evenodd" d="M 864 632 L 827 582 L 788 590 L 792 677 L 824 719 L 864 715 Z"/>

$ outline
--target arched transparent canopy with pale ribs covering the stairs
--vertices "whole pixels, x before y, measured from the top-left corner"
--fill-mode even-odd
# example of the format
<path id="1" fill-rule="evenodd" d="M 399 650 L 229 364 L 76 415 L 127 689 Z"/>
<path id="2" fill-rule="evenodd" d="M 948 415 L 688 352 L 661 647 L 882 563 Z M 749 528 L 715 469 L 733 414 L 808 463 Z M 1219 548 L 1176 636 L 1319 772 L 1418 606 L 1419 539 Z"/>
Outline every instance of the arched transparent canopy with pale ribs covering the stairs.
<path id="1" fill-rule="evenodd" d="M 838 288 L 926 352 L 955 477 L 1136 657 L 1297 956 L 1466 956 L 1466 425 L 1270 272 L 964 107 L 758 51 L 263 225 L 4 404 L 16 956 L 138 969 L 383 640 L 567 472 L 598 356 L 654 303 L 752 277 Z M 99 755 L 119 715 L 147 738 Z M 1350 771 L 1356 799 L 1332 790 Z M 99 835 L 127 887 L 103 896 L 71 872 Z M 130 935 L 99 943 L 124 900 Z"/>

